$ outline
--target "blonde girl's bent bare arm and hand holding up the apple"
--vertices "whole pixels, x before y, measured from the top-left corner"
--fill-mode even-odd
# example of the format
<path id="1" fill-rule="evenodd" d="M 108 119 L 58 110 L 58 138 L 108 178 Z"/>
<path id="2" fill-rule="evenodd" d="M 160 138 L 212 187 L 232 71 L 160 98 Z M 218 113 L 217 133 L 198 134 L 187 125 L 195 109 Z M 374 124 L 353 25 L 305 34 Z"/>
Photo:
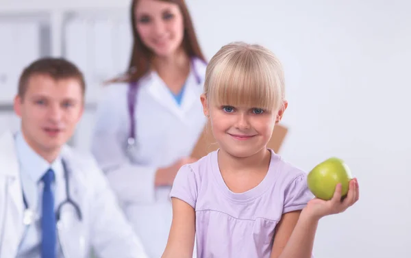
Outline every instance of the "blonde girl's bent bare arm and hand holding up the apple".
<path id="1" fill-rule="evenodd" d="M 358 181 L 353 179 L 344 201 L 341 201 L 341 185 L 338 184 L 330 201 L 314 198 L 302 211 L 284 214 L 275 233 L 271 258 L 311 258 L 319 220 L 345 211 L 359 198 Z"/>

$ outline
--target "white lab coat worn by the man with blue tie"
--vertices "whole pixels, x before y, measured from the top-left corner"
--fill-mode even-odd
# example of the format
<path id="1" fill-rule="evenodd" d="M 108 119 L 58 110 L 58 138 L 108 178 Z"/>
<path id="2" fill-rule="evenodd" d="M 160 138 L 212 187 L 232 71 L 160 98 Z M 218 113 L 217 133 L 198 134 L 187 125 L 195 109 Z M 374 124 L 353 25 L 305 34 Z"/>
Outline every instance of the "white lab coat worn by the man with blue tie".
<path id="1" fill-rule="evenodd" d="M 69 146 L 64 146 L 62 158 L 69 168 L 71 196 L 83 216 L 79 221 L 71 205 L 61 211 L 58 242 L 64 257 L 85 258 L 93 249 L 99 257 L 147 258 L 94 160 L 77 155 Z M 0 257 L 14 258 L 25 225 L 23 190 L 12 132 L 0 137 L 0 164 Z"/>

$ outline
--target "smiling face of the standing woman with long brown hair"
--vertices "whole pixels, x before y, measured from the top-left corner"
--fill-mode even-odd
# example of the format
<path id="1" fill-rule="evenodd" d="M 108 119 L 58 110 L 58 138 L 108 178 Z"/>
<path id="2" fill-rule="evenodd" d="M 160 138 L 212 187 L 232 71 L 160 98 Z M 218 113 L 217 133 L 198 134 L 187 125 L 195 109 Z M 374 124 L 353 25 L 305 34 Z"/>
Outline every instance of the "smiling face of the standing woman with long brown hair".
<path id="1" fill-rule="evenodd" d="M 181 47 L 184 18 L 179 6 L 160 0 L 138 0 L 136 30 L 141 41 L 155 55 L 166 57 Z"/>

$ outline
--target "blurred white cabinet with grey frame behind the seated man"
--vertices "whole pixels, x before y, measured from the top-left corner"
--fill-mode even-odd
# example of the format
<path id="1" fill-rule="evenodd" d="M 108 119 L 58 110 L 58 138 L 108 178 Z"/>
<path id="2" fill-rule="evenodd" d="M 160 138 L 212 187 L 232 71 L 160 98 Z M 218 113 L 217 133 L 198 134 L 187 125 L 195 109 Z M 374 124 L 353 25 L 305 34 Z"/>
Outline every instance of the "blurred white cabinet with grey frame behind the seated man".
<path id="1" fill-rule="evenodd" d="M 0 133 L 18 126 L 12 100 L 23 68 L 39 57 L 65 57 L 86 79 L 86 112 L 70 144 L 88 150 L 103 81 L 127 70 L 132 34 L 129 1 L 75 1 L 0 6 Z"/>

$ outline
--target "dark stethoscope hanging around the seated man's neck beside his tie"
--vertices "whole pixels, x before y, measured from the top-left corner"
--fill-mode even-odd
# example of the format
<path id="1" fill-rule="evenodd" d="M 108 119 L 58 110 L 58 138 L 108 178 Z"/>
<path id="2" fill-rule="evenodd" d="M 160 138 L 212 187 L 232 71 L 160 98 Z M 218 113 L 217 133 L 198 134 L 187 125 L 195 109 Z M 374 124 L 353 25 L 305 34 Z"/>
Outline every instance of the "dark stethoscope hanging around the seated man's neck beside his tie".
<path id="1" fill-rule="evenodd" d="M 69 185 L 69 170 L 67 169 L 66 162 L 62 160 L 62 166 L 63 166 L 63 171 L 64 171 L 64 181 L 66 185 L 66 200 L 64 200 L 60 205 L 58 205 L 57 210 L 55 211 L 55 219 L 57 222 L 60 221 L 60 214 L 61 214 L 61 209 L 64 205 L 72 205 L 73 208 L 75 209 L 75 213 L 77 214 L 77 218 L 81 221 L 83 219 L 82 217 L 82 211 L 79 208 L 79 205 L 73 201 L 70 195 L 70 185 Z M 33 224 L 34 221 L 36 221 L 37 216 L 36 212 L 33 209 L 30 209 L 27 199 L 25 197 L 25 194 L 23 192 L 23 203 L 25 206 L 25 210 L 23 213 L 23 224 L 25 226 L 29 226 L 30 224 Z"/>

